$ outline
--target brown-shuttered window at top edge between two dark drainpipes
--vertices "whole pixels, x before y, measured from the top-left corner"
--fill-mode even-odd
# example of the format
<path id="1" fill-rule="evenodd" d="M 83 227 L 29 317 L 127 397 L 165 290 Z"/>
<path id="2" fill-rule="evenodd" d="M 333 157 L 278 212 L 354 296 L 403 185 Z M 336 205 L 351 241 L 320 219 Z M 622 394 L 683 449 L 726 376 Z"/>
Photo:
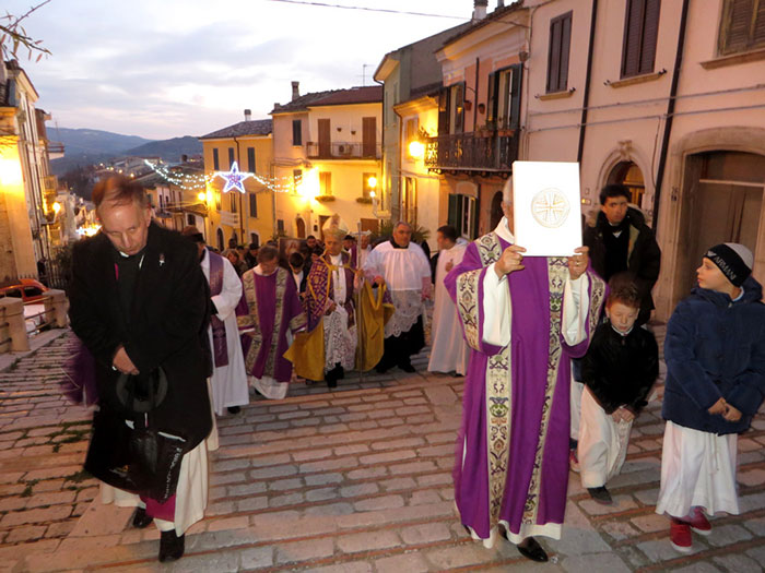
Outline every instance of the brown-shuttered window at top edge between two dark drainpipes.
<path id="1" fill-rule="evenodd" d="M 622 77 L 651 73 L 656 59 L 661 0 L 627 0 Z"/>

